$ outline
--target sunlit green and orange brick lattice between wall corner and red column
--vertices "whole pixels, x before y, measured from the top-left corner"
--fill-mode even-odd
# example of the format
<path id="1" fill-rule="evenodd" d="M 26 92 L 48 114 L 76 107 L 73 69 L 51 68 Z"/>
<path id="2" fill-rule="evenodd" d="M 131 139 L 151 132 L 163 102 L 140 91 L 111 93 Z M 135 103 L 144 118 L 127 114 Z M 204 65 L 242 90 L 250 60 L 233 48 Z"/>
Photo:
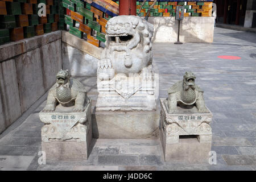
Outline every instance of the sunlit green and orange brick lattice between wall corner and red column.
<path id="1" fill-rule="evenodd" d="M 68 25 L 69 32 L 97 47 L 106 41 L 106 22 L 118 15 L 118 4 L 110 0 L 96 0 L 92 4 L 63 0 L 63 7 L 65 15 L 60 21 Z"/>

